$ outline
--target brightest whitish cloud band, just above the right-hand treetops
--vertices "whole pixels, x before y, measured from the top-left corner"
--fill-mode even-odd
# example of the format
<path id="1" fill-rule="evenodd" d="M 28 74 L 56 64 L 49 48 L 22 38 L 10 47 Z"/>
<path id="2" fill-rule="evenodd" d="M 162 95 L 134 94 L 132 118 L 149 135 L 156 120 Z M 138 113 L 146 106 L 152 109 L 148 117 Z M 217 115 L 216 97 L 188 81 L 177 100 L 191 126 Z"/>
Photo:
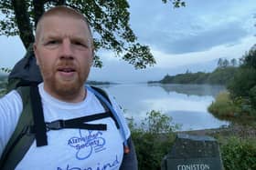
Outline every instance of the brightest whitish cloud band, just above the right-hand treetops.
<path id="1" fill-rule="evenodd" d="M 168 54 L 162 50 L 153 49 L 153 55 L 157 65 L 155 67 L 170 68 L 182 65 L 193 65 L 204 63 L 214 59 L 222 58 L 240 58 L 256 42 L 256 37 L 248 36 L 240 40 L 236 45 L 216 45 L 206 51 L 198 51 L 186 54 Z"/>

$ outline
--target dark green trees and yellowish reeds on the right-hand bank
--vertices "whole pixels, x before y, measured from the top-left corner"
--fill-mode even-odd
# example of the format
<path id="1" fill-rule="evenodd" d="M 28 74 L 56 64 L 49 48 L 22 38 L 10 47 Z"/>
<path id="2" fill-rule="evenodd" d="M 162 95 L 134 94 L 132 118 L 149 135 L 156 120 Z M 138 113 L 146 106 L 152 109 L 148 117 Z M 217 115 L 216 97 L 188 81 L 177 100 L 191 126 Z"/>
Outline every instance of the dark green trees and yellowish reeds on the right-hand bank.
<path id="1" fill-rule="evenodd" d="M 240 66 L 208 111 L 221 119 L 256 119 L 256 45 L 240 58 Z M 233 119 L 235 118 L 235 119 Z"/>

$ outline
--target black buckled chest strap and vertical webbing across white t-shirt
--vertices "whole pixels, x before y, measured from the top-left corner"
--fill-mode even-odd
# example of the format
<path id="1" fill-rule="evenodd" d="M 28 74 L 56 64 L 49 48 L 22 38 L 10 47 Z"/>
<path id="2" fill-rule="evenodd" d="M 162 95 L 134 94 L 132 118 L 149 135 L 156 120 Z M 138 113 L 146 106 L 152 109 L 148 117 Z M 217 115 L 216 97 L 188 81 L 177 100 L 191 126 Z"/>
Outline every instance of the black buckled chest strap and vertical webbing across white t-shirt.
<path id="1" fill-rule="evenodd" d="M 30 87 L 31 107 L 34 119 L 34 125 L 28 129 L 28 134 L 35 134 L 37 146 L 48 145 L 47 132 L 49 130 L 59 130 L 63 128 L 78 128 L 87 130 L 107 130 L 107 125 L 104 124 L 86 124 L 92 120 L 97 120 L 111 116 L 108 110 L 105 113 L 88 115 L 69 120 L 56 120 L 53 122 L 45 122 L 43 108 L 41 104 L 41 96 L 38 92 L 37 85 Z"/>

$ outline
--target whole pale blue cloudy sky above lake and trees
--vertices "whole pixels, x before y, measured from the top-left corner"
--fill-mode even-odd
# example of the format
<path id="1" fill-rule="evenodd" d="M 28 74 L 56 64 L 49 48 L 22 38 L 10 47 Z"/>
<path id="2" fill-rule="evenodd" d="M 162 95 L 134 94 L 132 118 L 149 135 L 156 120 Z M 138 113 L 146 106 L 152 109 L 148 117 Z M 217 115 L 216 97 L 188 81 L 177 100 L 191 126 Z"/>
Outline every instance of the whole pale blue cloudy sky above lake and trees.
<path id="1" fill-rule="evenodd" d="M 255 0 L 186 0 L 181 8 L 162 0 L 128 2 L 133 32 L 139 43 L 150 47 L 156 64 L 135 70 L 101 50 L 103 67 L 92 68 L 90 80 L 133 83 L 187 70 L 211 72 L 219 58 L 240 58 L 256 43 Z M 0 67 L 12 68 L 25 55 L 18 37 L 0 36 L 0 46 Z"/>

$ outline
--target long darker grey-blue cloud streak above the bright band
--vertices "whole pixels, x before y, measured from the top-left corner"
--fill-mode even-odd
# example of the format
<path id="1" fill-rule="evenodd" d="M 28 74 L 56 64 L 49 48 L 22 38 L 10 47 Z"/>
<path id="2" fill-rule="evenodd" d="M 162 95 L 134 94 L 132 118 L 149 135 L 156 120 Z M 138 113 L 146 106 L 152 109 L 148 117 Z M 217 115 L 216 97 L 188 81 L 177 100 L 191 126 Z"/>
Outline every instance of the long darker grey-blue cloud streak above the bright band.
<path id="1" fill-rule="evenodd" d="M 214 46 L 239 42 L 247 32 L 238 26 L 237 23 L 223 25 L 216 29 L 211 29 L 197 33 L 195 35 L 185 35 L 177 40 L 165 39 L 157 45 L 166 53 L 184 54 L 198 51 L 206 51 Z"/>

